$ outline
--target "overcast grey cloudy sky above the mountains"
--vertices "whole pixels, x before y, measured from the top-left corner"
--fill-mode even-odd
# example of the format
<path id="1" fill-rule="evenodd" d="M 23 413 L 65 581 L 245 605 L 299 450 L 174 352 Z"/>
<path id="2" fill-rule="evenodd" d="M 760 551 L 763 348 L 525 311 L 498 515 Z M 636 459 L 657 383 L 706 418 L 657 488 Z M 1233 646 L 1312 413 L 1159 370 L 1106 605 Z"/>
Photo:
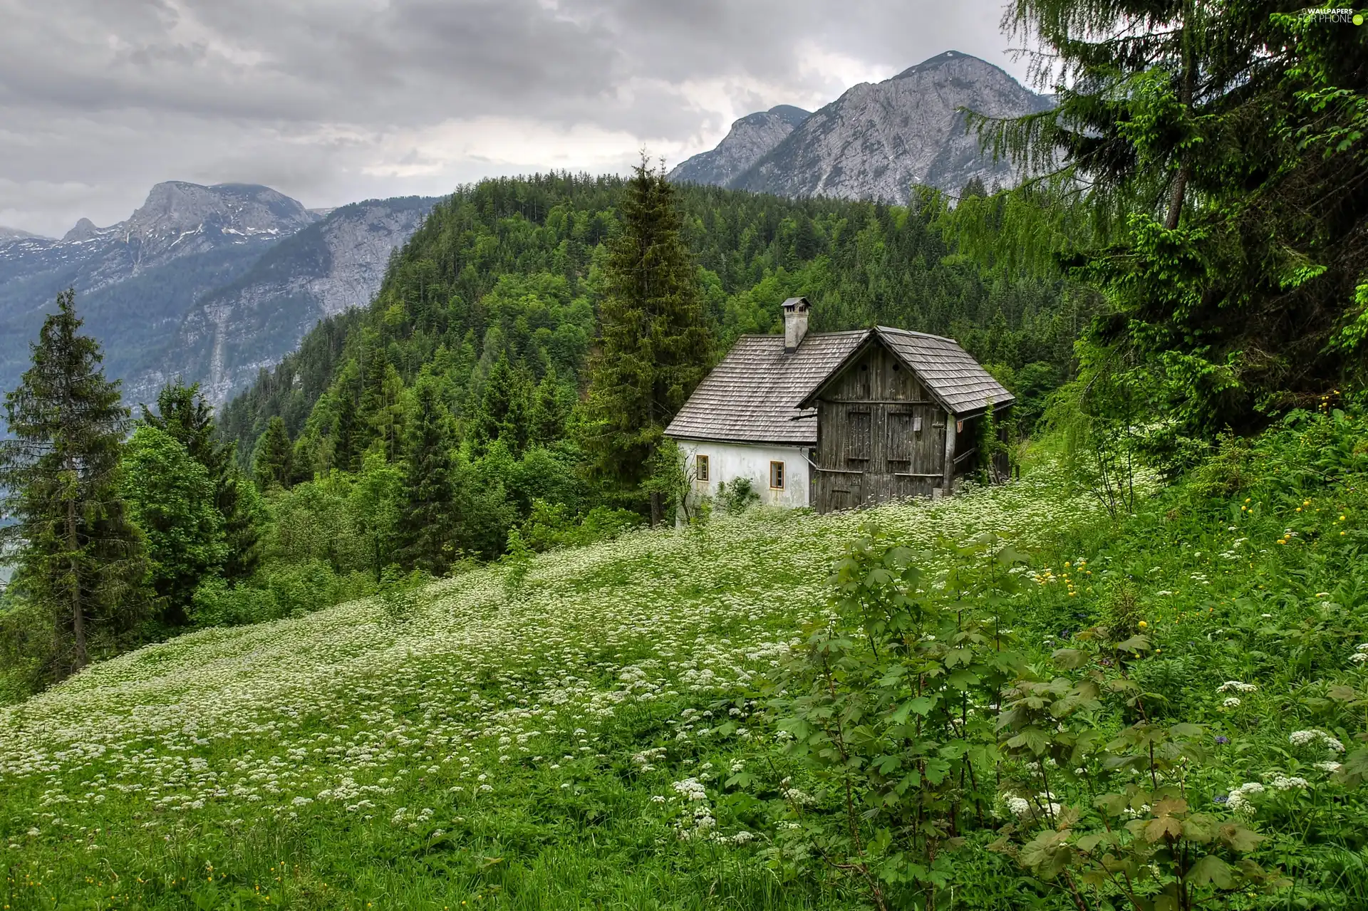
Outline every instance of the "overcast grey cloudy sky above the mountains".
<path id="1" fill-rule="evenodd" d="M 308 207 L 669 164 L 943 51 L 1025 77 L 1001 0 L 0 0 L 0 226 L 159 181 Z"/>

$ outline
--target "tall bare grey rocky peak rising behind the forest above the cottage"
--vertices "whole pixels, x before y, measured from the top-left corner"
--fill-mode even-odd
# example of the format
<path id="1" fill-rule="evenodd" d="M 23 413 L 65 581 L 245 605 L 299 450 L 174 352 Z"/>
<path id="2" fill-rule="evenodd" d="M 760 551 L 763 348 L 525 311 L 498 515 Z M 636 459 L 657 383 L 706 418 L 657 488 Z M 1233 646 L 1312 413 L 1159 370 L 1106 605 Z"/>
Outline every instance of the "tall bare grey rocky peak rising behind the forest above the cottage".
<path id="1" fill-rule="evenodd" d="M 735 176 L 679 179 L 789 197 L 885 202 L 906 202 L 912 185 L 953 193 L 975 176 L 985 186 L 1012 183 L 1016 175 L 1005 161 L 979 153 L 978 137 L 966 129 L 962 108 L 1003 118 L 1047 111 L 1052 104 L 999 67 L 947 51 L 884 82 L 848 89 Z"/>

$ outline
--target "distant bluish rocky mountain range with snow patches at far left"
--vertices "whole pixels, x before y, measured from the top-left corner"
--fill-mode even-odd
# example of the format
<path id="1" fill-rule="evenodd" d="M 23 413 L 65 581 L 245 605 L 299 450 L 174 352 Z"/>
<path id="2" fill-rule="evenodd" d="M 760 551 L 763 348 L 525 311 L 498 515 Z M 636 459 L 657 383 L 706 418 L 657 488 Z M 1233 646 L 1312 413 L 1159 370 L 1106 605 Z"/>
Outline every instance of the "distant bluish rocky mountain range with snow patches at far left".
<path id="1" fill-rule="evenodd" d="M 321 315 L 368 301 L 390 250 L 431 202 L 309 211 L 265 186 L 172 181 L 152 187 L 118 224 L 81 219 L 60 241 L 0 241 L 0 390 L 25 369 L 56 294 L 74 287 L 86 330 L 104 345 L 107 373 L 124 380 L 131 401 L 146 401 L 176 375 L 226 397 L 233 380 L 224 378 L 238 375 L 239 361 L 254 372 L 293 349 Z M 282 278 L 290 269 L 297 274 Z M 241 339 L 219 332 L 218 361 L 197 357 L 189 343 L 204 336 L 205 312 L 218 315 L 215 326 L 242 330 Z"/>

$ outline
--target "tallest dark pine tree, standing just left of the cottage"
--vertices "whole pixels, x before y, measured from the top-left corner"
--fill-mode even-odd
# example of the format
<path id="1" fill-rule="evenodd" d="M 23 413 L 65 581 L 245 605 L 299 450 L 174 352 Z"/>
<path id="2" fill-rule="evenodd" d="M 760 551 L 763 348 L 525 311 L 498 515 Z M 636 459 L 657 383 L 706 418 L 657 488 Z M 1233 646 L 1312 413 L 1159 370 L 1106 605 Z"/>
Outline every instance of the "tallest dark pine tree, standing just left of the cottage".
<path id="1" fill-rule="evenodd" d="M 711 338 L 663 166 L 655 171 L 643 159 L 624 187 L 620 217 L 605 267 L 586 445 L 596 473 L 639 498 L 665 425 L 706 372 Z M 650 506 L 659 523 L 659 492 L 650 494 Z"/>

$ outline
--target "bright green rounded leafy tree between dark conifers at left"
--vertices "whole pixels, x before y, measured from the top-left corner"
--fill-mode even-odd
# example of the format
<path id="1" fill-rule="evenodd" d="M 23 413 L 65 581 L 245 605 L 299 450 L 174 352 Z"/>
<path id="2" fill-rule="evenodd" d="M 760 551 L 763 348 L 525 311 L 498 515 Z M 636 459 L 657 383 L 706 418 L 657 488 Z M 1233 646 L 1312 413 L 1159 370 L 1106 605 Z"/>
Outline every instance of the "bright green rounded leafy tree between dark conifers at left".
<path id="1" fill-rule="evenodd" d="M 152 424 L 133 432 L 119 492 L 129 517 L 142 529 L 160 602 L 157 621 L 164 626 L 189 621 L 196 587 L 228 558 L 215 487 L 209 469 L 171 434 Z"/>

